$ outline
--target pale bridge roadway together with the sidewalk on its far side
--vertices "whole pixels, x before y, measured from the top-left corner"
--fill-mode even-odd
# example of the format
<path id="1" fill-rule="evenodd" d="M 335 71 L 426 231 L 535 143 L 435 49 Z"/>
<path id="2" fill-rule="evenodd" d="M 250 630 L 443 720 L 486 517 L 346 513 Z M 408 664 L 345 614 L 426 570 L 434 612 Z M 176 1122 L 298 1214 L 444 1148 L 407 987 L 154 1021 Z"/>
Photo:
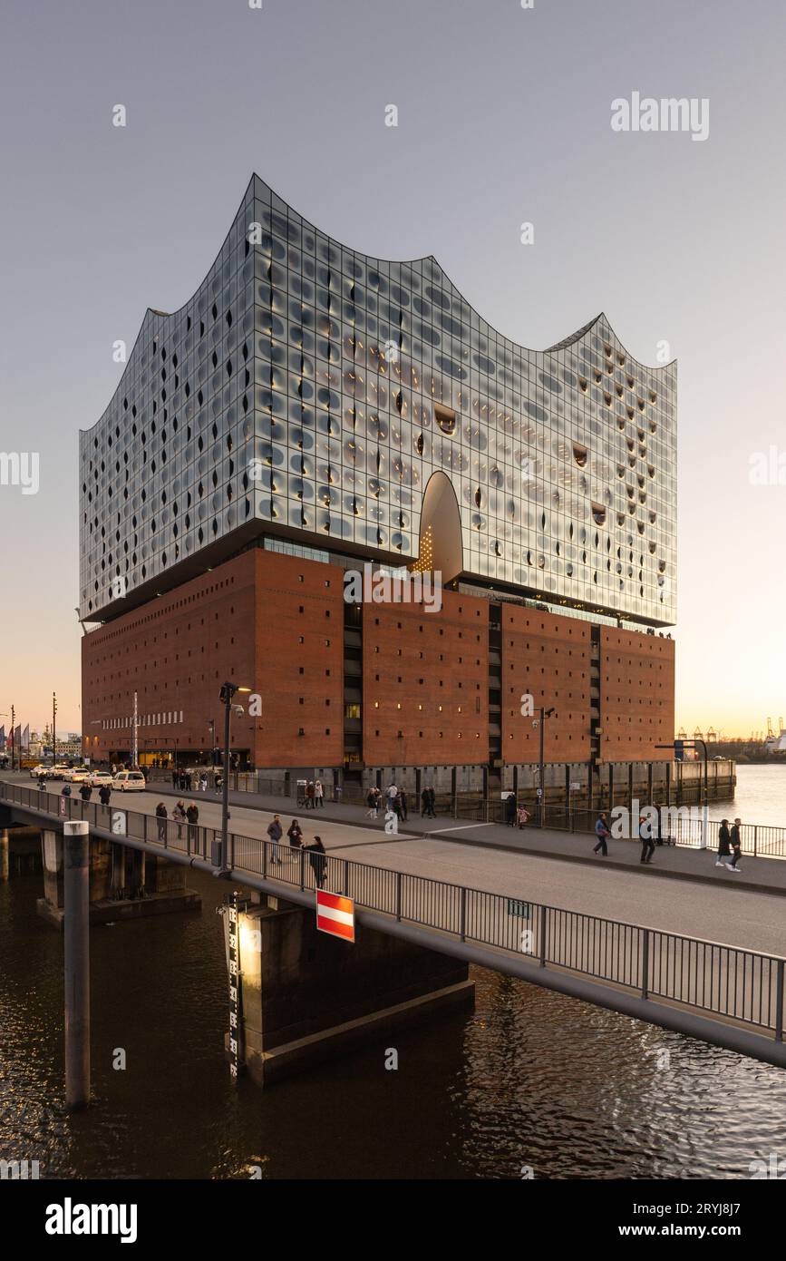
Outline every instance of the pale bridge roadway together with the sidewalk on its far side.
<path id="1" fill-rule="evenodd" d="M 10 777 L 4 777 L 10 778 Z M 29 779 L 14 777 L 30 787 Z M 50 784 L 57 794 L 59 784 Z M 38 793 L 34 793 L 38 797 Z M 140 793 L 112 793 L 112 806 L 152 815 L 156 803 L 170 806 L 178 796 L 171 784 L 151 784 Z M 181 794 L 184 798 L 186 794 Z M 214 793 L 191 793 L 199 823 L 220 825 L 220 802 Z M 295 813 L 282 797 L 232 794 L 231 830 L 241 841 L 239 854 L 253 852 L 266 836 L 273 812 L 285 831 Z M 340 816 L 340 817 L 338 817 Z M 639 845 L 612 842 L 608 859 L 592 855 L 592 837 L 501 825 L 479 825 L 446 817 L 409 822 L 412 830 L 388 836 L 382 821 L 365 818 L 359 806 L 328 805 L 299 811 L 306 840 L 321 835 L 328 854 L 428 876 L 448 884 L 499 893 L 506 898 L 562 907 L 603 919 L 625 921 L 664 932 L 684 933 L 762 951 L 786 953 L 783 905 L 773 894 L 786 892 L 786 863 L 747 859 L 742 875 L 714 866 L 707 851 L 658 849 L 655 864 L 639 864 Z M 409 823 L 406 825 L 409 827 Z M 431 834 L 431 835 L 427 835 Z M 251 851 L 247 849 L 252 846 Z M 242 859 L 241 859 L 242 865 Z"/>

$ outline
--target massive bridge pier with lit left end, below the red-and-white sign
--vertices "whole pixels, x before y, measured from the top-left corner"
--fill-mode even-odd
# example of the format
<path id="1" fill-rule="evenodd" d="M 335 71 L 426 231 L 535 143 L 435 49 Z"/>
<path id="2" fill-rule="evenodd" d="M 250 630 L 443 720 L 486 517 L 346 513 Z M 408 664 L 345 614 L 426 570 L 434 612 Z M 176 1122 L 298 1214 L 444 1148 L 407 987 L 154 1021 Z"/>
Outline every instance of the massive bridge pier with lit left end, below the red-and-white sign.
<path id="1" fill-rule="evenodd" d="M 382 1067 L 394 1029 L 474 1002 L 464 961 L 363 924 L 350 944 L 278 898 L 241 912 L 238 942 L 241 1061 L 257 1086 L 358 1044 L 377 1045 Z"/>

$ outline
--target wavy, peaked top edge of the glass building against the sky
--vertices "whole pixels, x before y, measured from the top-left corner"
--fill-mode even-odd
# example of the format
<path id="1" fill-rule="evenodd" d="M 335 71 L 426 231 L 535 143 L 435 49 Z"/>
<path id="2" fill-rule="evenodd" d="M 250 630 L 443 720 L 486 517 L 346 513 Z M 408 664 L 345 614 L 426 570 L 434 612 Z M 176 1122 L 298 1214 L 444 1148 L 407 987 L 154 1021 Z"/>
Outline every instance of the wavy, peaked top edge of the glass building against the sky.
<path id="1" fill-rule="evenodd" d="M 150 323 L 150 320 L 151 319 L 174 319 L 176 315 L 180 314 L 180 311 L 184 311 L 186 309 L 186 306 L 189 306 L 190 303 L 194 301 L 196 294 L 199 293 L 199 290 L 202 289 L 202 286 L 205 284 L 208 276 L 210 275 L 210 272 L 214 270 L 214 267 L 219 262 L 220 256 L 222 256 L 222 251 L 223 251 L 224 246 L 227 245 L 227 241 L 229 240 L 229 235 L 231 235 L 234 224 L 237 223 L 238 216 L 239 216 L 239 213 L 241 213 L 241 211 L 243 208 L 246 198 L 248 197 L 248 190 L 253 185 L 254 180 L 258 180 L 261 184 L 265 185 L 265 188 L 270 189 L 270 192 L 273 194 L 273 197 L 277 197 L 278 200 L 283 202 L 283 204 L 287 207 L 287 209 L 292 211 L 293 214 L 297 214 L 297 217 L 301 219 L 301 222 L 304 224 L 307 224 L 307 227 L 310 227 L 312 232 L 328 237 L 329 241 L 331 241 L 334 245 L 336 245 L 340 250 L 345 250 L 348 253 L 360 255 L 360 257 L 363 257 L 365 260 L 375 261 L 375 262 L 387 262 L 388 265 L 393 265 L 393 266 L 397 266 L 397 267 L 411 267 L 413 264 L 417 264 L 417 262 L 427 262 L 427 261 L 432 262 L 436 267 L 438 267 L 440 272 L 445 276 L 445 279 L 451 285 L 451 288 L 456 290 L 456 293 L 461 298 L 461 301 L 466 303 L 466 305 L 470 308 L 470 310 L 472 310 L 477 315 L 477 318 L 484 322 L 484 324 L 486 325 L 486 328 L 489 328 L 498 337 L 501 337 L 505 342 L 509 342 L 510 346 L 514 346 L 518 351 L 521 351 L 521 352 L 529 353 L 529 354 L 558 354 L 561 351 L 564 351 L 568 347 L 574 346 L 577 342 L 581 342 L 581 339 L 583 337 L 586 337 L 587 333 L 590 333 L 591 329 L 593 329 L 596 327 L 596 324 L 598 324 L 601 320 L 605 320 L 606 324 L 608 325 L 608 329 L 612 332 L 616 342 L 625 351 L 626 358 L 631 359 L 632 363 L 637 364 L 640 368 L 644 368 L 646 372 L 664 372 L 666 368 L 670 368 L 673 364 L 676 363 L 676 357 L 674 359 L 670 359 L 669 363 L 659 363 L 659 364 L 655 364 L 655 366 L 649 364 L 649 363 L 644 363 L 644 361 L 637 359 L 635 354 L 630 353 L 630 351 L 627 349 L 627 347 L 625 346 L 625 343 L 617 335 L 617 333 L 616 333 L 616 330 L 615 330 L 615 328 L 613 328 L 613 325 L 611 323 L 611 320 L 607 318 L 607 315 L 602 310 L 598 311 L 598 314 L 593 319 L 591 319 L 587 324 L 583 324 L 574 333 L 571 333 L 569 337 L 563 338 L 561 342 L 555 342 L 553 346 L 547 346 L 542 351 L 534 349 L 533 347 L 523 346 L 520 342 L 516 342 L 514 338 L 508 337 L 506 333 L 501 333 L 498 328 L 494 327 L 494 324 L 489 323 L 489 320 L 485 318 L 485 315 L 481 315 L 481 313 L 474 305 L 474 303 L 469 301 L 464 296 L 464 293 L 458 289 L 458 286 L 456 285 L 456 282 L 448 276 L 448 274 L 446 272 L 445 267 L 442 266 L 442 264 L 440 262 L 440 260 L 436 257 L 436 255 L 433 255 L 433 253 L 423 253 L 423 255 L 421 255 L 419 257 L 416 257 L 416 259 L 382 259 L 378 255 L 365 253 L 364 250 L 355 250 L 354 246 L 344 245 L 343 241 L 339 241 L 336 237 L 330 236 L 329 232 L 322 231 L 322 228 L 317 228 L 314 223 L 311 223 L 310 219 L 306 219 L 300 213 L 300 211 L 296 211 L 292 206 L 290 206 L 290 203 L 286 200 L 286 198 L 281 197 L 280 193 L 276 193 L 275 188 L 272 188 L 266 180 L 263 180 L 261 175 L 257 175 L 257 173 L 253 171 L 251 179 L 248 180 L 248 184 L 246 185 L 246 192 L 243 193 L 243 197 L 242 197 L 241 204 L 238 207 L 238 211 L 237 211 L 234 218 L 232 219 L 232 223 L 229 224 L 227 232 L 224 233 L 224 238 L 223 238 L 223 241 L 222 241 L 222 243 L 220 243 L 220 246 L 219 246 L 219 248 L 218 248 L 218 251 L 217 251 L 217 253 L 215 253 L 215 256 L 213 259 L 213 262 L 210 264 L 210 266 L 205 271 L 204 276 L 202 277 L 202 280 L 199 281 L 199 284 L 196 285 L 196 288 L 193 290 L 193 293 L 185 299 L 184 303 L 180 304 L 180 306 L 176 306 L 175 310 L 173 310 L 173 311 L 162 311 L 162 310 L 159 310 L 155 306 L 147 306 L 145 309 L 145 314 L 142 315 L 142 322 L 140 324 L 139 333 L 136 334 L 136 337 L 134 339 L 134 346 L 131 347 L 131 353 L 128 354 L 128 357 L 126 359 L 126 364 L 125 364 L 123 371 L 121 373 L 120 381 L 117 382 L 117 386 L 115 387 L 115 390 L 112 392 L 112 397 L 110 398 L 110 401 L 108 401 L 107 406 L 105 407 L 103 412 L 101 414 L 101 416 L 92 425 L 89 425 L 88 429 L 81 429 L 79 430 L 81 434 L 91 434 L 93 431 L 93 429 L 96 429 L 96 426 L 101 424 L 101 421 L 105 419 L 105 416 L 107 415 L 107 412 L 112 407 L 112 405 L 113 405 L 117 395 L 122 390 L 122 383 L 125 381 L 126 372 L 127 372 L 127 369 L 128 369 L 128 367 L 131 364 L 131 359 L 134 357 L 134 352 L 136 351 L 136 347 L 137 347 L 139 342 L 141 340 L 142 334 L 145 333 L 145 328 Z"/>

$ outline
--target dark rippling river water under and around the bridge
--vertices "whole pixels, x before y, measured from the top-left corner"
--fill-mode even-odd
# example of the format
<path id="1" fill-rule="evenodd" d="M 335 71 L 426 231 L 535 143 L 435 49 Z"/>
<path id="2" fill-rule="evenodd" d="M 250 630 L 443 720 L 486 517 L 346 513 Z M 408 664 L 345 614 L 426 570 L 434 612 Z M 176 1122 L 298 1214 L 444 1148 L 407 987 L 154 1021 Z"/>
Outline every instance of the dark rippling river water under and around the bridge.
<path id="1" fill-rule="evenodd" d="M 733 813 L 786 822 L 786 768 L 739 769 Z M 94 1103 L 76 1116 L 62 942 L 35 913 L 40 876 L 0 884 L 0 1158 L 42 1178 L 723 1179 L 786 1148 L 786 1072 L 480 968 L 472 1014 L 233 1090 L 227 886 L 189 883 L 200 914 L 92 932 Z"/>

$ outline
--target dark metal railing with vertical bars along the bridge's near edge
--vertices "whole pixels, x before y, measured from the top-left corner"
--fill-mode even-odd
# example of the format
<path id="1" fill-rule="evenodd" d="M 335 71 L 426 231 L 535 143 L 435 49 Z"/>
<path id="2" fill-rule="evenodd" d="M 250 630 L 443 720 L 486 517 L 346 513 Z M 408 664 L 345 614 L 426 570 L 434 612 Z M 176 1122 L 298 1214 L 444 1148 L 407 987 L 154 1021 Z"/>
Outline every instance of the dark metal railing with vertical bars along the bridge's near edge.
<path id="1" fill-rule="evenodd" d="M 162 852 L 212 860 L 219 831 L 199 823 L 157 818 L 113 803 L 0 783 L 0 799 L 54 818 L 84 818 L 112 831 L 125 815 L 122 836 Z M 354 859 L 291 847 L 254 836 L 229 836 L 229 863 L 243 873 L 300 890 L 329 888 L 359 907 L 435 933 L 532 960 L 540 967 L 574 972 L 642 999 L 676 1004 L 783 1038 L 786 960 L 640 924 L 566 910 L 464 885 L 411 875 Z"/>

